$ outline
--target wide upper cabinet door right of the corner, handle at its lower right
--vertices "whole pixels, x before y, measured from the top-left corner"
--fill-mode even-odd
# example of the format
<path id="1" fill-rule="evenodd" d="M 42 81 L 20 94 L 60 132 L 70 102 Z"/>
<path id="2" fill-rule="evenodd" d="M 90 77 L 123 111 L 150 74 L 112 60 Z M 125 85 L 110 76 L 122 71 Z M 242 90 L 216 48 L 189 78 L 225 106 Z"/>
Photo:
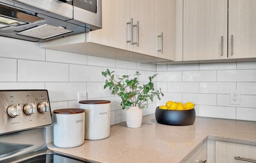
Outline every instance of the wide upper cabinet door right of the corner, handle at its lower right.
<path id="1" fill-rule="evenodd" d="M 183 1 L 183 61 L 227 59 L 227 9 L 228 0 Z"/>

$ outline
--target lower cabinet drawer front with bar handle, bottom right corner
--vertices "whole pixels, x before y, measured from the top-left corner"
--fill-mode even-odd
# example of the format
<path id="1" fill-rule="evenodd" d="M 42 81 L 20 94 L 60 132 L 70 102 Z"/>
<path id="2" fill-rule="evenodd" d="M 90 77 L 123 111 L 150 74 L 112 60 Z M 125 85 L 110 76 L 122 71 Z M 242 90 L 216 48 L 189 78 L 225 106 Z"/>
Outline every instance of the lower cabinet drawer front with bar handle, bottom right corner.
<path id="1" fill-rule="evenodd" d="M 216 141 L 216 163 L 256 163 L 256 146 Z"/>

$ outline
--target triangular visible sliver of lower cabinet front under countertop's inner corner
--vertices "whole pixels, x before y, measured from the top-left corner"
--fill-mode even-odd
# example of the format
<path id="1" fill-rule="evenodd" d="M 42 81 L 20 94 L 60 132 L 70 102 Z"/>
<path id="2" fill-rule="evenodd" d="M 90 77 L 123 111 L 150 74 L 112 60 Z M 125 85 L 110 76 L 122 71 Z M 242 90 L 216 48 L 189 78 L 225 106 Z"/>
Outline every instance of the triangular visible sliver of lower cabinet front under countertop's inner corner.
<path id="1" fill-rule="evenodd" d="M 187 163 L 204 163 L 207 159 L 207 141 L 188 159 Z M 206 163 L 206 162 L 205 162 Z"/>

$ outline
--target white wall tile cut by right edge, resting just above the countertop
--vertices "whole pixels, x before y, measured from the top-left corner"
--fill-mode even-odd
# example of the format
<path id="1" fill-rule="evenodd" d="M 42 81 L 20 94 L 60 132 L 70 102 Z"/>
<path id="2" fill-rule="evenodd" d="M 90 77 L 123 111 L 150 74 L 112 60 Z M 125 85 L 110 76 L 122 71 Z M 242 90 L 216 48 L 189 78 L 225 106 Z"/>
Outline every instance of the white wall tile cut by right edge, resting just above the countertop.
<path id="1" fill-rule="evenodd" d="M 256 121 L 256 108 L 236 108 L 236 119 L 246 121 Z"/>

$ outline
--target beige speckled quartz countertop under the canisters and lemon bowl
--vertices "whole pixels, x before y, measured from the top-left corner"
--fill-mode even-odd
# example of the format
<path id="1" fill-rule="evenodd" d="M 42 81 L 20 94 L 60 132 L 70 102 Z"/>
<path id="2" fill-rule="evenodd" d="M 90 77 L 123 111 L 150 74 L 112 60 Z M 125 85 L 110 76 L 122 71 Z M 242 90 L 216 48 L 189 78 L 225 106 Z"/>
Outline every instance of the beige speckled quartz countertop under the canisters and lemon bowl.
<path id="1" fill-rule="evenodd" d="M 101 163 L 183 163 L 207 139 L 256 145 L 256 122 L 196 117 L 194 125 L 168 126 L 151 114 L 139 129 L 120 123 L 111 126 L 109 138 L 85 140 L 70 149 L 48 148 Z"/>

